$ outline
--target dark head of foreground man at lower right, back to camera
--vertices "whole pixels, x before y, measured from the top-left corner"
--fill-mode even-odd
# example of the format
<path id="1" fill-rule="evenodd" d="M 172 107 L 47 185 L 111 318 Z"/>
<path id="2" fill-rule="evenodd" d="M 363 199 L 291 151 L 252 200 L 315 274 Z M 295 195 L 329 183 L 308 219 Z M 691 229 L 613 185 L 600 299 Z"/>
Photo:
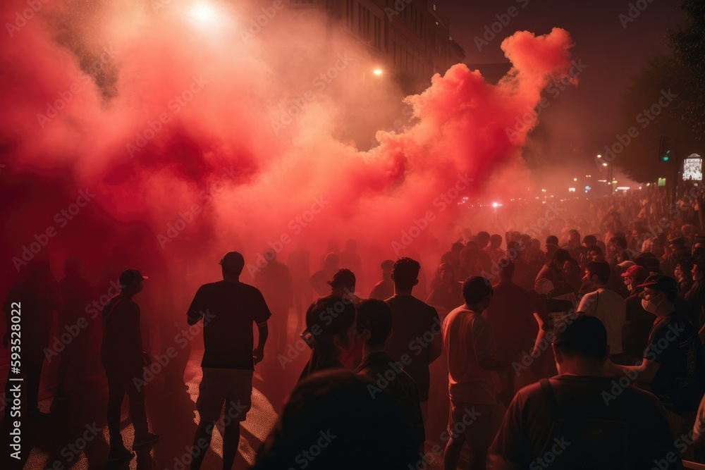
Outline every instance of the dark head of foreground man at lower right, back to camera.
<path id="1" fill-rule="evenodd" d="M 553 358 L 559 374 L 600 371 L 608 355 L 607 330 L 595 316 L 568 316 L 556 324 Z"/>

